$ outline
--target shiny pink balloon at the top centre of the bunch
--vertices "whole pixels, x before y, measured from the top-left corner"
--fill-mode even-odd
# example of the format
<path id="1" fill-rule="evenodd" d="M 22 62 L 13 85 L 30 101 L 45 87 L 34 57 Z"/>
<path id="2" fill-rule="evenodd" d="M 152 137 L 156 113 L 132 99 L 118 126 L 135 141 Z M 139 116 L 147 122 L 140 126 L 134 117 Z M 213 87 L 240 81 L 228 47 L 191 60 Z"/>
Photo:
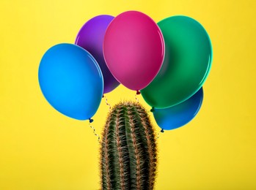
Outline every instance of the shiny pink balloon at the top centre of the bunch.
<path id="1" fill-rule="evenodd" d="M 149 16 L 137 11 L 123 12 L 106 29 L 103 54 L 112 75 L 127 88 L 139 91 L 161 68 L 164 39 Z"/>

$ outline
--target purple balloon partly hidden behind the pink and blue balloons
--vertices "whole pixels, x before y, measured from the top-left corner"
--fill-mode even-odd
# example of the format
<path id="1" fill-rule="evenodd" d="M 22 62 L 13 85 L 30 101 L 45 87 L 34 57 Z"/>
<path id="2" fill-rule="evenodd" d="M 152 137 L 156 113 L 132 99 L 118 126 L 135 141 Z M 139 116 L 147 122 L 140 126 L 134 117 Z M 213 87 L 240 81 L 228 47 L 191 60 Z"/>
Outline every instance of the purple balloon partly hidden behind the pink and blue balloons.
<path id="1" fill-rule="evenodd" d="M 106 94 L 119 86 L 117 80 L 109 72 L 103 57 L 103 39 L 106 28 L 114 17 L 110 15 L 99 15 L 87 21 L 82 26 L 76 37 L 76 45 L 89 51 L 98 62 L 104 78 L 104 91 Z"/>

